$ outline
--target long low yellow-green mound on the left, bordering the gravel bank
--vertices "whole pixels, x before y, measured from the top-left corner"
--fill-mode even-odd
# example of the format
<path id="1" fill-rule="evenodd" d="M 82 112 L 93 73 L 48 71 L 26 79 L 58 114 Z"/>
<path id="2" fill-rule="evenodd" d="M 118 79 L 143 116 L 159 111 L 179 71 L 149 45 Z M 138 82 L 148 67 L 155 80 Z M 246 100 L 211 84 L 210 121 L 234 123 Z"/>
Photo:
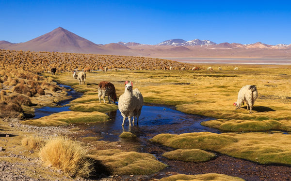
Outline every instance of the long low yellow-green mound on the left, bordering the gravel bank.
<path id="1" fill-rule="evenodd" d="M 25 125 L 59 126 L 74 123 L 96 123 L 108 121 L 109 116 L 101 112 L 63 111 L 39 119 L 22 121 Z"/>

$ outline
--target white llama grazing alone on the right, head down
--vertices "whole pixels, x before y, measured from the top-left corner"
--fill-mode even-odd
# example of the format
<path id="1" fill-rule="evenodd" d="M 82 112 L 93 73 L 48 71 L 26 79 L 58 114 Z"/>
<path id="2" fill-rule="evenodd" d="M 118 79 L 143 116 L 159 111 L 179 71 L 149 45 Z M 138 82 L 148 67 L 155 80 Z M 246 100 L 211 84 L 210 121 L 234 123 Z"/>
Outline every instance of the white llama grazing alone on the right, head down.
<path id="1" fill-rule="evenodd" d="M 249 110 L 249 113 L 252 112 L 255 100 L 258 97 L 258 90 L 256 85 L 245 85 L 241 88 L 238 94 L 238 100 L 233 103 L 236 106 L 236 110 L 241 107 L 241 105 L 246 102 L 246 110 Z"/>

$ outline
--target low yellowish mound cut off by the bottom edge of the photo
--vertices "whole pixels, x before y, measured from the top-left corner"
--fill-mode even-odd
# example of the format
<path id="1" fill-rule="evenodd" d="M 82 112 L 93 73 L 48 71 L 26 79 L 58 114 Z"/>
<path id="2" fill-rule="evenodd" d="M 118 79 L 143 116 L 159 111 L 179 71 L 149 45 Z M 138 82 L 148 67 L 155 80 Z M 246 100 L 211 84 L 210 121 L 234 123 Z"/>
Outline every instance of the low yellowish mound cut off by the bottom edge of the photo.
<path id="1" fill-rule="evenodd" d="M 231 177 L 224 174 L 207 173 L 199 175 L 172 175 L 159 181 L 245 181 L 239 177 Z"/>

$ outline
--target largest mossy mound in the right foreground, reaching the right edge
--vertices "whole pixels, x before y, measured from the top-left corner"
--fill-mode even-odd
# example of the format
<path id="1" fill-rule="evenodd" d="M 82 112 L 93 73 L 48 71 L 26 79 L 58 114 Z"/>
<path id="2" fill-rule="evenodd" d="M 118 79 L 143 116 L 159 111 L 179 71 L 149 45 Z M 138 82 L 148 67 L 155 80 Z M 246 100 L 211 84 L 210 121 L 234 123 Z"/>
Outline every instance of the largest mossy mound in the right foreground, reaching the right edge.
<path id="1" fill-rule="evenodd" d="M 178 149 L 220 152 L 260 164 L 291 165 L 291 135 L 282 133 L 160 134 L 150 140 Z"/>

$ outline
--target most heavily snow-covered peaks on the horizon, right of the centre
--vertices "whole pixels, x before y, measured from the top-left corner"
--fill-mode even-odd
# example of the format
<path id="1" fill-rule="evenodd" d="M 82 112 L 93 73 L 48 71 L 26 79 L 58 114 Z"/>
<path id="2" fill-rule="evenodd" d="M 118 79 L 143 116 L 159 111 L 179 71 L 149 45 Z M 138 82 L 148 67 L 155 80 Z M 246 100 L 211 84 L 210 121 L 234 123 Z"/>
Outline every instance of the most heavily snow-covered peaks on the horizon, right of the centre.
<path id="1" fill-rule="evenodd" d="M 194 45 L 213 45 L 216 44 L 215 42 L 211 42 L 209 40 L 191 40 L 186 42 L 182 39 L 173 39 L 173 40 L 166 40 L 164 42 L 158 43 L 157 45 L 168 45 L 168 46 L 194 46 Z"/>

